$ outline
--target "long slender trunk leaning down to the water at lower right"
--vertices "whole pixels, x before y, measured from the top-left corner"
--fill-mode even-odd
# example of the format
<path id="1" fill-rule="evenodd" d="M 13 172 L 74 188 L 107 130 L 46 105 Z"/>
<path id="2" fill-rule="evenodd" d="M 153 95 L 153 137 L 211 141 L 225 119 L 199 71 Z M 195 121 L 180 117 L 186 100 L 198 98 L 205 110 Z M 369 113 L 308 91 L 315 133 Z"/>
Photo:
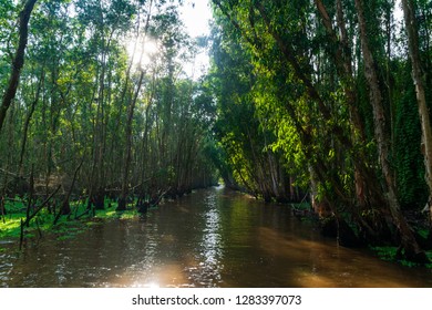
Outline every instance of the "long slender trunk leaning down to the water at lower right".
<path id="1" fill-rule="evenodd" d="M 364 75 L 369 86 L 369 96 L 373 110 L 374 135 L 377 138 L 379 162 L 385 182 L 384 194 L 390 215 L 398 227 L 401 237 L 401 246 L 405 250 L 405 256 L 412 260 L 428 261 L 424 251 L 418 245 L 405 218 L 403 217 L 398 202 L 393 172 L 390 167 L 390 142 L 385 135 L 385 114 L 382 104 L 382 94 L 379 89 L 378 73 L 374 68 L 373 54 L 370 50 L 367 32 L 367 21 L 364 18 L 363 1 L 356 0 L 356 10 L 359 18 L 361 49 L 364 60 Z"/>

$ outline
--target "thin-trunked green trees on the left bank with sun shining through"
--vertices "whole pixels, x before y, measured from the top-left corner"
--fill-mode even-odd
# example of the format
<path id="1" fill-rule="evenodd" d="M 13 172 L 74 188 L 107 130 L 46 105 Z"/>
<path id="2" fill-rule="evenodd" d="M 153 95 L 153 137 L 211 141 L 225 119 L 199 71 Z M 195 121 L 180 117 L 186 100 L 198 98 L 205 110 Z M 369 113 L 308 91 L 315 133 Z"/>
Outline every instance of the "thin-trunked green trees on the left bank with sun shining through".
<path id="1" fill-rule="evenodd" d="M 0 35 L 14 42 L 7 16 L 19 8 L 3 2 L 0 22 L 10 27 Z M 182 72 L 195 49 L 182 30 L 177 2 L 38 3 L 19 94 L 0 135 L 0 168 L 23 176 L 23 184 L 0 173 L 1 195 L 28 192 L 33 167 L 35 194 L 47 196 L 62 185 L 63 199 L 81 162 L 71 197 L 91 195 L 92 202 L 104 188 L 119 195 L 122 179 L 142 197 L 213 184 L 215 167 L 204 149 L 215 107 L 208 91 Z M 142 43 L 150 37 L 157 51 L 142 72 L 137 60 L 145 58 Z M 0 42 L 0 70 L 7 72 Z M 132 164 L 125 168 L 127 148 Z"/>

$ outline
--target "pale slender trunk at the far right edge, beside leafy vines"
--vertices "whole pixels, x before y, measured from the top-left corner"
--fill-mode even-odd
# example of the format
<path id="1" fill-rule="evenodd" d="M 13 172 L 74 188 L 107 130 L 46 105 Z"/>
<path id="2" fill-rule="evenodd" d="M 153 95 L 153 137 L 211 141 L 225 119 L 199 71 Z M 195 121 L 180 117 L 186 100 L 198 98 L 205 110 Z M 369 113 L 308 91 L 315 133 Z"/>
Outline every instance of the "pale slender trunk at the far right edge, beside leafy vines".
<path id="1" fill-rule="evenodd" d="M 416 102 L 419 104 L 419 115 L 422 128 L 422 153 L 424 156 L 425 180 L 429 187 L 429 216 L 432 224 L 432 128 L 429 116 L 425 90 L 424 74 L 419 51 L 419 34 L 415 24 L 414 6 L 412 0 L 402 0 L 405 28 L 408 33 L 408 45 L 410 50 L 412 80 L 415 85 Z"/>

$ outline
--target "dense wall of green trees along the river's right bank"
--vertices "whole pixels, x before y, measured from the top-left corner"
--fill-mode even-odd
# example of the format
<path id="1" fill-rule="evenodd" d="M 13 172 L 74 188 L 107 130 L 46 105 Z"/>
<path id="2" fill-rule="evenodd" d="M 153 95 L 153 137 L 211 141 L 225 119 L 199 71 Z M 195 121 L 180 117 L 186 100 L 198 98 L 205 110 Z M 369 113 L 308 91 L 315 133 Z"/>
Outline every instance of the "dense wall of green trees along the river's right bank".
<path id="1" fill-rule="evenodd" d="M 224 169 L 255 196 L 295 179 L 356 231 L 385 231 L 390 205 L 419 211 L 428 197 L 421 132 L 394 1 L 359 2 L 214 1 L 215 134 Z M 430 52 L 422 45 L 424 68 Z M 393 177 L 398 202 L 387 199 Z"/>

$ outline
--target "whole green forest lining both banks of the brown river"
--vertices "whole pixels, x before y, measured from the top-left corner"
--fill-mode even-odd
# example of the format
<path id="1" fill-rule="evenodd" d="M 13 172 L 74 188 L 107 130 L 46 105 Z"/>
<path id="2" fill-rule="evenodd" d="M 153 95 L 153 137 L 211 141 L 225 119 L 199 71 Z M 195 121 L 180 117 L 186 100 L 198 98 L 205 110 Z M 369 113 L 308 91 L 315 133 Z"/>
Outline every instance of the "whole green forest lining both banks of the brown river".
<path id="1" fill-rule="evenodd" d="M 0 1 L 4 229 L 223 182 L 430 262 L 431 1 L 212 0 L 198 38 L 182 0 Z"/>

